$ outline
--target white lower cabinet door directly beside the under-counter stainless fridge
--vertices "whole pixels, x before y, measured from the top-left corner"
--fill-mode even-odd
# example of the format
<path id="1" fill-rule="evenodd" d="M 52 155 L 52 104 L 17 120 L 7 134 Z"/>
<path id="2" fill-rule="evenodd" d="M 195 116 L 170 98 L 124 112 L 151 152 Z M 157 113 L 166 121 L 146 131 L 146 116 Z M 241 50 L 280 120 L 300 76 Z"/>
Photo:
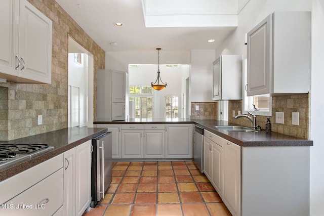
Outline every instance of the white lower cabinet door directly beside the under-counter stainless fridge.
<path id="1" fill-rule="evenodd" d="M 91 202 L 91 140 L 76 146 L 76 215 L 82 215 Z"/>

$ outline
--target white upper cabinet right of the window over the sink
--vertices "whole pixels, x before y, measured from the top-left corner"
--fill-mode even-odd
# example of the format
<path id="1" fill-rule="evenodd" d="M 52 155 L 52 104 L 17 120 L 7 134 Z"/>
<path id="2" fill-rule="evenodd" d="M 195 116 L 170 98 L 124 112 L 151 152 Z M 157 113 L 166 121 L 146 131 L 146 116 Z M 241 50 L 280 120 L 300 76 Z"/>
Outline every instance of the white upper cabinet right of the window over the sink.
<path id="1" fill-rule="evenodd" d="M 247 95 L 310 91 L 310 12 L 274 12 L 248 33 Z"/>

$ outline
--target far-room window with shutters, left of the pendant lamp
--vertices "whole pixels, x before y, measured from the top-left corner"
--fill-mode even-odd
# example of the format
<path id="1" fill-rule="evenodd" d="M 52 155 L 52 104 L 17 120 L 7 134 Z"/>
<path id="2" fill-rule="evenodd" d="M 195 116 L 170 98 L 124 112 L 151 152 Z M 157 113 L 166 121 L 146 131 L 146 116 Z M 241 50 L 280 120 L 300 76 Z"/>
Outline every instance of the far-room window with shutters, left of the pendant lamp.
<path id="1" fill-rule="evenodd" d="M 150 85 L 130 85 L 130 109 L 133 118 L 152 118 L 153 90 Z M 134 115 L 134 116 L 133 116 Z"/>

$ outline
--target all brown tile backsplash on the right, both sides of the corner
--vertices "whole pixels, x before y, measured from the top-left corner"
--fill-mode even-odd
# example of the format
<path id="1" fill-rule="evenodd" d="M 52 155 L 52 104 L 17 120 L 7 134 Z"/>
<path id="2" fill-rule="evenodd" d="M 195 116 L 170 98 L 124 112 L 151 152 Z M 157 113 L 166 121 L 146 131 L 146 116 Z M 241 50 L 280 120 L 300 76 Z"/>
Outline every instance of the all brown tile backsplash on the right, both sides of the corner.
<path id="1" fill-rule="evenodd" d="M 199 110 L 195 110 L 196 105 Z M 216 119 L 216 102 L 191 102 L 191 119 Z M 252 123 L 247 118 L 233 118 L 232 110 L 235 114 L 242 112 L 242 100 L 233 100 L 228 103 L 228 122 L 251 127 Z M 275 123 L 275 112 L 284 112 L 284 124 Z M 292 112 L 299 112 L 299 125 L 292 124 Z M 265 129 L 267 117 L 271 120 L 272 132 L 290 135 L 297 138 L 309 139 L 309 94 L 282 95 L 272 97 L 272 116 L 257 115 L 257 124 Z"/>

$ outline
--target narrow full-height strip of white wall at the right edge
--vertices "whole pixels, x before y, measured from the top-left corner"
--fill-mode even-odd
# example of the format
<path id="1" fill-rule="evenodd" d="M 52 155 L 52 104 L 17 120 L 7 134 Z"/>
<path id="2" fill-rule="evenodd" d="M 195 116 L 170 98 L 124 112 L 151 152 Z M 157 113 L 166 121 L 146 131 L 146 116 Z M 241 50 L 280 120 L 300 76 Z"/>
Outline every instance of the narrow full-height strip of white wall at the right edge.
<path id="1" fill-rule="evenodd" d="M 310 97 L 310 215 L 324 215 L 324 1 L 312 1 L 312 74 Z"/>

